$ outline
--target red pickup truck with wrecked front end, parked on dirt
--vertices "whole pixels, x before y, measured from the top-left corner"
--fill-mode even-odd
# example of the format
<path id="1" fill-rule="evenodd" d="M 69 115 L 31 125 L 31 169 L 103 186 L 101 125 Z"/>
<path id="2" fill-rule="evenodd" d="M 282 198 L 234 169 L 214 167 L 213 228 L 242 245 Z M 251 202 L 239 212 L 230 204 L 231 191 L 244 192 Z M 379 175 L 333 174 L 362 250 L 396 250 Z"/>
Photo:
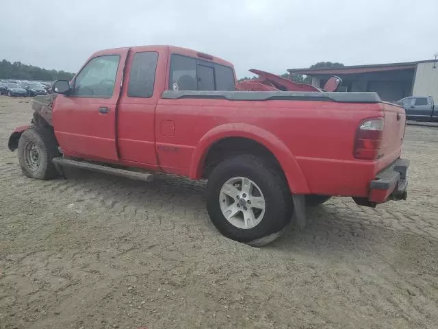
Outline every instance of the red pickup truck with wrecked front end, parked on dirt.
<path id="1" fill-rule="evenodd" d="M 363 206 L 406 199 L 400 106 L 376 93 L 236 88 L 233 65 L 205 53 L 98 51 L 71 82 L 55 82 L 56 95 L 36 97 L 9 148 L 40 180 L 65 166 L 208 180 L 211 221 L 252 245 L 274 240 L 293 214 L 304 226 L 305 205 L 333 195 Z"/>

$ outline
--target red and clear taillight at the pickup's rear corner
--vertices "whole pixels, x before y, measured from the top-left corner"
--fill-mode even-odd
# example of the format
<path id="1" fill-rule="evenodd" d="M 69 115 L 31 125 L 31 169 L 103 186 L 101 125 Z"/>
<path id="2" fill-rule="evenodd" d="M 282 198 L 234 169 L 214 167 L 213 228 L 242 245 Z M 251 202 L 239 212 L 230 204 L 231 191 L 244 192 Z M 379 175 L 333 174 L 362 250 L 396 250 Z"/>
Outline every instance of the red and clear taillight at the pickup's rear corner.
<path id="1" fill-rule="evenodd" d="M 383 135 L 383 118 L 367 119 L 357 127 L 354 156 L 361 160 L 376 160 Z"/>

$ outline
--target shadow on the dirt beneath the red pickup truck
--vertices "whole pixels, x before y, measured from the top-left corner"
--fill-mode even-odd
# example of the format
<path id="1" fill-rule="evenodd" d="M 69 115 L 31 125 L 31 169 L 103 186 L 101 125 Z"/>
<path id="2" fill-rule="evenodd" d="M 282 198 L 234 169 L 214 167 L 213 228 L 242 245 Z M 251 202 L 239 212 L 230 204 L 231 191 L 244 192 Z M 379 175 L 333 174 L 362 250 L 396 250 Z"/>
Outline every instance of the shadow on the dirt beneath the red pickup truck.
<path id="1" fill-rule="evenodd" d="M 144 183 L 81 170 L 68 171 L 67 175 L 68 180 L 74 181 L 75 188 L 86 188 L 88 191 L 92 188 L 99 199 L 105 200 L 101 206 L 107 207 L 110 213 L 117 208 L 114 204 L 142 209 L 150 216 L 172 222 L 176 227 L 190 225 L 193 229 L 202 230 L 206 239 L 227 241 L 211 224 L 205 210 L 206 182 L 157 175 L 153 182 Z M 338 198 L 309 208 L 309 224 L 305 230 L 300 231 L 291 223 L 268 248 L 323 254 L 374 252 L 376 245 L 394 239 L 395 230 L 378 221 L 378 210 L 372 210 L 371 214 L 361 210 L 352 200 Z M 148 225 L 146 221 L 144 224 Z"/>

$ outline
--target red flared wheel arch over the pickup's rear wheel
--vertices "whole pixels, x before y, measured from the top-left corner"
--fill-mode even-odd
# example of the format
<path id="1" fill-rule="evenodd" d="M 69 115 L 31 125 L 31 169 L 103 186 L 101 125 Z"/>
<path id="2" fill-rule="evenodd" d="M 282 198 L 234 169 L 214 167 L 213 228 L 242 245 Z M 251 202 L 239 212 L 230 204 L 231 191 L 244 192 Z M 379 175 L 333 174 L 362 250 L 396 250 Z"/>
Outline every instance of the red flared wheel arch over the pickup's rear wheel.
<path id="1" fill-rule="evenodd" d="M 209 148 L 217 141 L 228 137 L 243 137 L 263 145 L 274 154 L 285 173 L 292 193 L 309 194 L 309 186 L 292 152 L 274 134 L 248 123 L 225 123 L 209 130 L 196 145 L 189 177 L 196 180 L 203 174 L 203 165 Z"/>

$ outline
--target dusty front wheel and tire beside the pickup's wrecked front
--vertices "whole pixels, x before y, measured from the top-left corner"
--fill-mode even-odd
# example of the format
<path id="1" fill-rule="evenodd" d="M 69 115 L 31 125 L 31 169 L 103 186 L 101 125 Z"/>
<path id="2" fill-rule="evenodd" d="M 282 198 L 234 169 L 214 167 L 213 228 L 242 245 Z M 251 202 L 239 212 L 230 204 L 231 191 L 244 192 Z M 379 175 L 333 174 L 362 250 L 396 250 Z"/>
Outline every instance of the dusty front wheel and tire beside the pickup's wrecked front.
<path id="1" fill-rule="evenodd" d="M 21 134 L 18 141 L 18 161 L 27 177 L 37 180 L 55 178 L 57 170 L 52 159 L 57 156 L 60 156 L 57 141 L 49 130 L 34 126 Z"/>

